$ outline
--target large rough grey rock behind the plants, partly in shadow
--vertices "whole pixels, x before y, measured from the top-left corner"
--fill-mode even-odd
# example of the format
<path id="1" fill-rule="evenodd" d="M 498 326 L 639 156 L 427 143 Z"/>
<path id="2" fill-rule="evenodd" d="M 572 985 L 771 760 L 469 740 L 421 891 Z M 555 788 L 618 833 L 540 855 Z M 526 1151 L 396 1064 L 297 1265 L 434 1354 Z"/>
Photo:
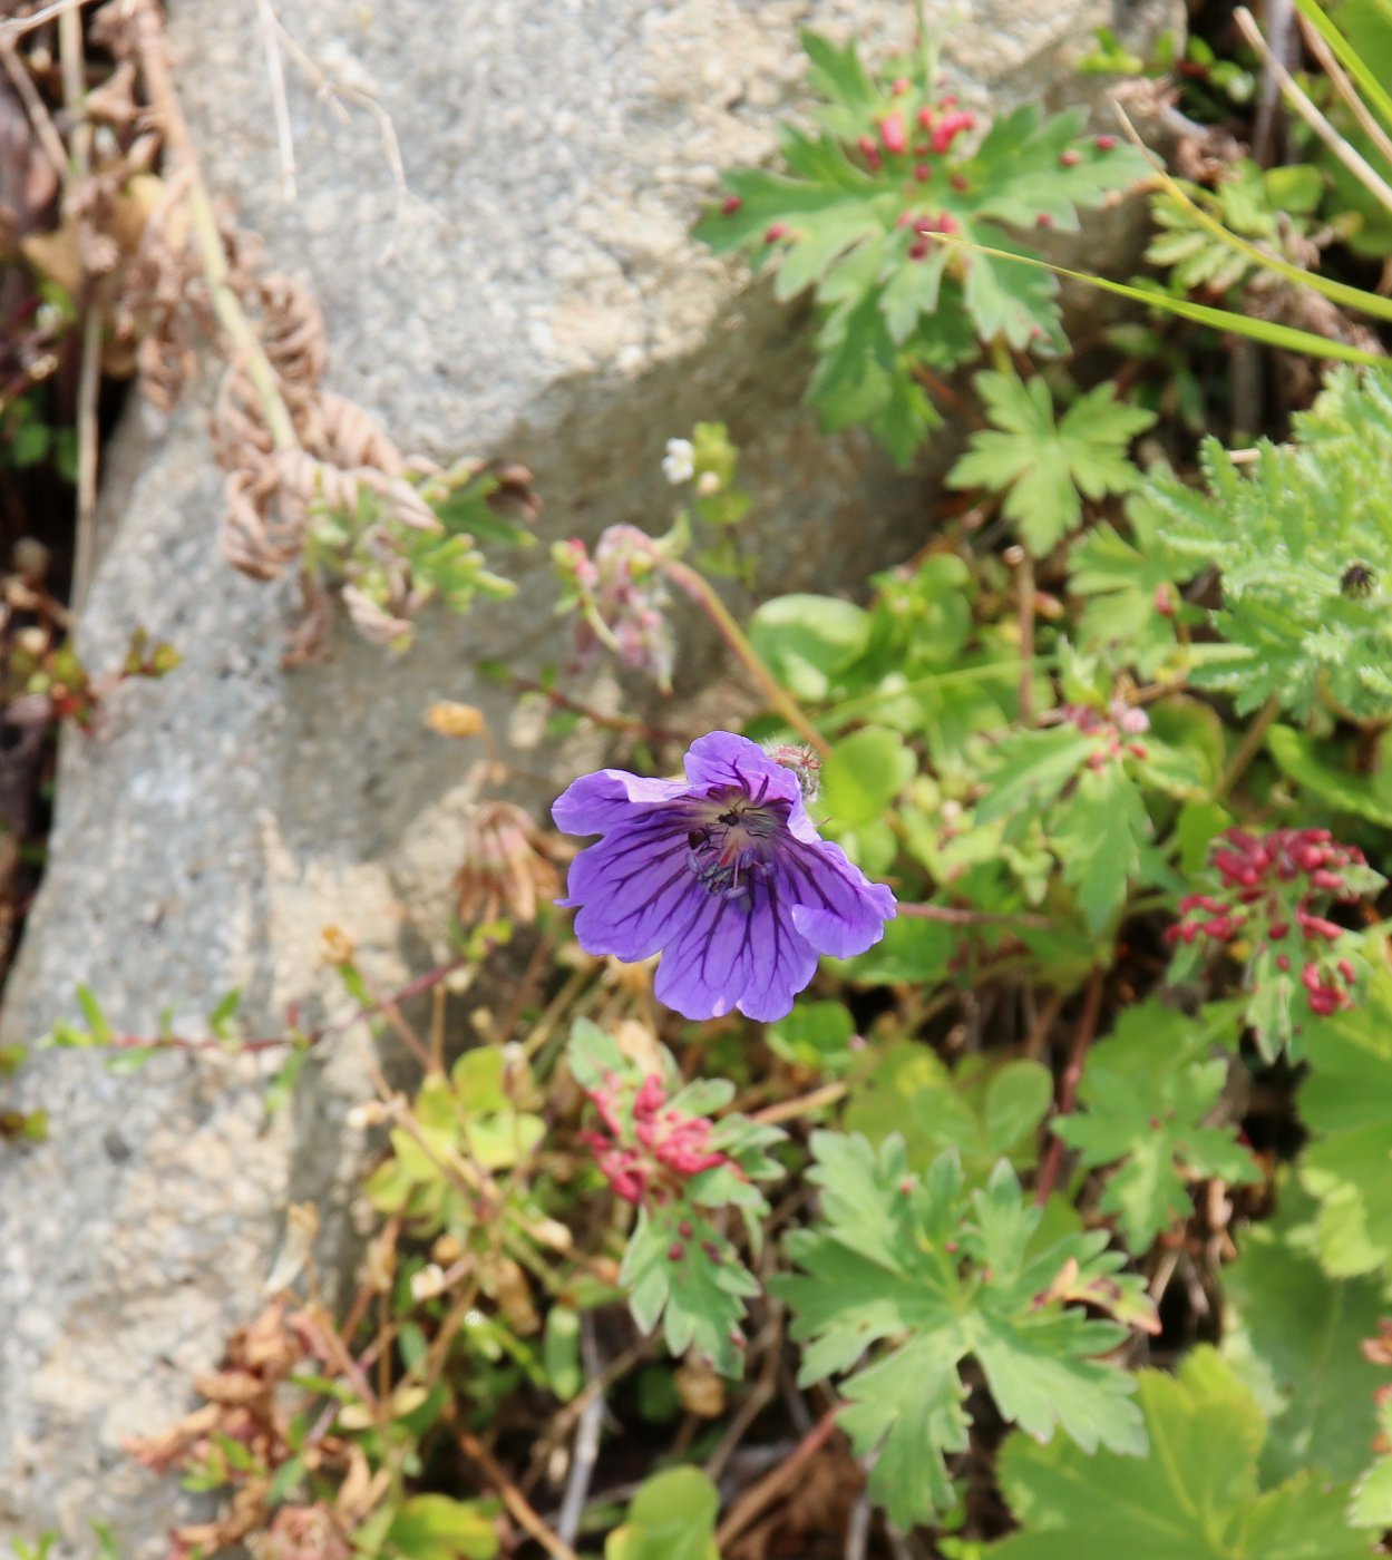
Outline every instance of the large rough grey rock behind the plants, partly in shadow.
<path id="1" fill-rule="evenodd" d="M 1117 3 L 974 0 L 950 51 L 994 101 L 1077 92 L 1066 66 L 1092 27 L 1172 25 L 1169 0 Z M 910 5 L 284 0 L 321 73 L 287 53 L 290 201 L 257 8 L 172 12 L 209 184 L 315 290 L 329 384 L 403 448 L 521 459 L 545 534 L 593 535 L 665 524 L 665 438 L 723 418 L 746 448 L 777 588 L 844 588 L 921 541 L 924 473 L 894 474 L 857 437 L 824 440 L 797 406 L 796 317 L 738 300 L 740 268 L 687 236 L 718 170 L 766 156 L 796 101 L 797 25 L 854 30 L 879 55 Z M 476 702 L 509 733 L 534 777 L 521 800 L 545 803 L 598 757 L 587 739 L 534 746 L 510 699 L 470 675 L 479 655 L 520 671 L 556 657 L 537 562 L 513 602 L 428 619 L 406 658 L 340 635 L 326 661 L 282 672 L 289 590 L 217 557 L 204 417 L 197 396 L 159 435 L 133 415 L 108 462 L 83 652 L 108 668 L 144 626 L 186 660 L 66 749 L 6 1042 L 69 1016 L 80 981 L 133 1033 L 165 1005 L 197 1030 L 233 987 L 268 1033 L 289 1005 L 332 1012 L 328 925 L 382 989 L 423 967 L 471 796 L 463 749 L 423 729 L 434 699 Z M 601 680 L 593 697 L 620 693 Z M 44 1053 L 23 1069 L 20 1104 L 50 1112 L 51 1142 L 0 1153 L 0 1540 L 58 1526 L 91 1552 L 86 1519 L 100 1516 L 123 1554 L 162 1552 L 184 1498 L 140 1473 L 123 1438 L 175 1418 L 189 1373 L 254 1312 L 287 1201 L 318 1203 L 332 1267 L 367 1151 L 345 1126 L 371 1092 L 367 1039 L 336 1042 L 292 1111 L 268 1119 L 262 1083 L 251 1061 L 206 1056 L 112 1075 Z"/>

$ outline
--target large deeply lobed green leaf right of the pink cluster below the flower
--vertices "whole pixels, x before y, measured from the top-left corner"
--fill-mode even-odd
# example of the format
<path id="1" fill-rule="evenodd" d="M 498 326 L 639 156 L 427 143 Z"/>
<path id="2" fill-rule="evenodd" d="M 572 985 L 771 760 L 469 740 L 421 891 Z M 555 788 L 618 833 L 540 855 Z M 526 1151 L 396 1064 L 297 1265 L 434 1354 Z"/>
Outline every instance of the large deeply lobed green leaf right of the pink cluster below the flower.
<path id="1" fill-rule="evenodd" d="M 1105 1237 L 1032 1245 L 1042 1211 L 1005 1161 L 969 1193 L 952 1151 L 918 1176 L 899 1137 L 877 1153 L 865 1137 L 816 1133 L 811 1147 L 821 1220 L 788 1240 L 802 1271 L 771 1287 L 807 1345 L 802 1382 L 850 1370 L 871 1351 L 843 1384 L 841 1423 L 857 1451 L 877 1454 L 871 1494 L 896 1526 L 929 1521 L 950 1499 L 944 1457 L 966 1445 L 966 1356 L 1000 1412 L 1030 1435 L 1063 1427 L 1089 1451 L 1144 1448 L 1131 1381 L 1100 1359 L 1124 1329 L 1052 1292 L 1063 1273 L 1085 1287 L 1138 1290 L 1102 1250 Z"/>

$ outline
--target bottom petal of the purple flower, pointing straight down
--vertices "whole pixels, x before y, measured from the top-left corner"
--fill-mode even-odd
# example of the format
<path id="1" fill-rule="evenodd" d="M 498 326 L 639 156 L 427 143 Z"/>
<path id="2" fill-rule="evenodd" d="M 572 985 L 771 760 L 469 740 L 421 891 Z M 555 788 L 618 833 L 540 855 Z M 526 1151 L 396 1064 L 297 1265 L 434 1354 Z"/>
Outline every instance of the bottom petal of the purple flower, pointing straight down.
<path id="1" fill-rule="evenodd" d="M 716 1019 L 732 1008 L 749 1019 L 782 1019 L 811 980 L 816 953 L 794 930 L 776 878 L 755 878 L 740 899 L 702 899 L 663 948 L 657 1000 L 687 1019 Z"/>

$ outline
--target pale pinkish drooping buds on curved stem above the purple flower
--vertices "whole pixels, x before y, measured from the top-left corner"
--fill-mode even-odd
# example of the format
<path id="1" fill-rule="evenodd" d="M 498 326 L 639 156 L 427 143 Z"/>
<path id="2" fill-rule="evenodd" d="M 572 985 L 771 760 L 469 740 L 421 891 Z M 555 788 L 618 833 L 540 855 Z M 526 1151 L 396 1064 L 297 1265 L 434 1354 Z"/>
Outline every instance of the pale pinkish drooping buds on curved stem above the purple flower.
<path id="1" fill-rule="evenodd" d="M 666 587 L 652 563 L 651 548 L 652 538 L 635 526 L 610 526 L 599 537 L 593 557 L 579 538 L 565 543 L 562 568 L 587 608 L 576 618 L 574 629 L 579 665 L 588 665 L 602 641 L 624 666 L 669 688 L 676 644 L 666 619 Z"/>

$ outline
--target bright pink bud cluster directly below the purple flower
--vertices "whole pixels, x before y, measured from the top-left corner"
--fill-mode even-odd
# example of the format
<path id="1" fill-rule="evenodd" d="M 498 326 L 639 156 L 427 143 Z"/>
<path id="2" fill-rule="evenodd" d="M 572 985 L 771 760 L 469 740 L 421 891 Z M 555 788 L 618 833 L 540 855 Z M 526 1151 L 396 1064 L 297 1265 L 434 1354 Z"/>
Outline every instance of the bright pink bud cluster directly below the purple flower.
<path id="1" fill-rule="evenodd" d="M 712 1123 L 704 1115 L 666 1104 L 657 1073 L 643 1080 L 627 1106 L 626 1094 L 618 1073 L 605 1073 L 604 1086 L 588 1090 L 604 1131 L 581 1133 L 616 1197 L 634 1206 L 666 1203 L 702 1170 L 733 1165 L 729 1154 L 710 1147 Z"/>

